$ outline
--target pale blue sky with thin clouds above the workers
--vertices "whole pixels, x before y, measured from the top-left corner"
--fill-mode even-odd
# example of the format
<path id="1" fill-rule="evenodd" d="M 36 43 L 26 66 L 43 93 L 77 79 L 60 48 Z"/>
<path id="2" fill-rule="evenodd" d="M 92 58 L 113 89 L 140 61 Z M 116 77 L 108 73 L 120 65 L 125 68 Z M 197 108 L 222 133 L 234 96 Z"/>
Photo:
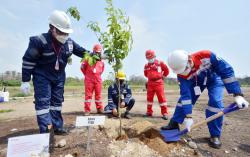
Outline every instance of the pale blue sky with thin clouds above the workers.
<path id="1" fill-rule="evenodd" d="M 143 75 L 145 51 L 153 49 L 166 62 L 175 49 L 190 53 L 211 50 L 229 62 L 237 77 L 250 76 L 250 1 L 249 0 L 113 0 L 130 18 L 133 48 L 124 60 L 127 77 Z M 66 11 L 76 6 L 82 19 L 72 20 L 70 37 L 88 50 L 97 43 L 86 27 L 97 21 L 106 25 L 104 0 L 1 0 L 0 73 L 21 72 L 22 57 L 29 37 L 48 31 L 48 17 L 53 10 Z M 106 78 L 112 68 L 105 62 Z M 82 78 L 80 58 L 66 68 L 67 76 Z M 171 77 L 175 75 L 171 72 Z"/>

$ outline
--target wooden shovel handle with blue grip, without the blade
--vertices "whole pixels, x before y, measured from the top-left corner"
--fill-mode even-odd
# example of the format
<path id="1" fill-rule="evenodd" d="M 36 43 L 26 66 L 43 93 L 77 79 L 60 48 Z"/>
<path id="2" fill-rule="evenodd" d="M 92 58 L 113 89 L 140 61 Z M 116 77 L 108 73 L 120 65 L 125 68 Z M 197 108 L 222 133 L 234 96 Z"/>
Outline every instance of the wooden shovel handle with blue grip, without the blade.
<path id="1" fill-rule="evenodd" d="M 220 111 L 218 112 L 217 114 L 211 116 L 211 117 L 208 117 L 206 118 L 205 120 L 199 122 L 199 123 L 196 123 L 194 124 L 192 127 L 191 127 L 191 130 L 192 129 L 195 129 L 195 128 L 198 128 L 199 126 L 203 125 L 203 124 L 207 124 L 209 122 L 211 122 L 212 120 L 215 120 L 227 113 L 230 113 L 230 112 L 233 112 L 233 111 L 236 111 L 236 110 L 239 110 L 239 107 L 237 106 L 237 104 L 235 103 L 232 103 L 230 104 L 228 107 L 226 107 L 223 111 Z"/>

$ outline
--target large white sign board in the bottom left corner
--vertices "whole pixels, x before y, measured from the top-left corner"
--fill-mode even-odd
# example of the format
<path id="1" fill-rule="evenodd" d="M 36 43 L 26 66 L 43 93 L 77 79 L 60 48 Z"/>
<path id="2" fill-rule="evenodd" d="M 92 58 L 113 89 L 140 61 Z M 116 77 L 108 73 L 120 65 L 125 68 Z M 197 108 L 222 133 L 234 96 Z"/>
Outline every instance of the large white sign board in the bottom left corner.
<path id="1" fill-rule="evenodd" d="M 30 157 L 49 152 L 49 133 L 8 139 L 7 157 Z"/>

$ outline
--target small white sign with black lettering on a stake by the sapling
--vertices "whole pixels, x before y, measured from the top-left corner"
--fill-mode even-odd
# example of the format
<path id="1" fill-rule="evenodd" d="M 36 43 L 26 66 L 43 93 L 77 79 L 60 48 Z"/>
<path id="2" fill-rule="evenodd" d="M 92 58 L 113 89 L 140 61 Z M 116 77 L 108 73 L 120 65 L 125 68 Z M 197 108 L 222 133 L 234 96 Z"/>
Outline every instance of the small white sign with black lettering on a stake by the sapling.
<path id="1" fill-rule="evenodd" d="M 104 125 L 105 116 L 77 116 L 76 127 Z"/>

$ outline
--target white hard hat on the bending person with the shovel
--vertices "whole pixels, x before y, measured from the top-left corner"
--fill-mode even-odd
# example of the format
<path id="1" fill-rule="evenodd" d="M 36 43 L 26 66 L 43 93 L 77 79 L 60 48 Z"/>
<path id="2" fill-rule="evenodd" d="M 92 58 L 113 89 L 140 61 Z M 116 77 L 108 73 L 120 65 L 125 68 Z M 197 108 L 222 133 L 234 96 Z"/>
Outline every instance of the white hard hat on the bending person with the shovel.
<path id="1" fill-rule="evenodd" d="M 184 50 L 175 50 L 168 56 L 168 65 L 176 74 L 185 71 L 188 64 L 188 53 Z"/>

